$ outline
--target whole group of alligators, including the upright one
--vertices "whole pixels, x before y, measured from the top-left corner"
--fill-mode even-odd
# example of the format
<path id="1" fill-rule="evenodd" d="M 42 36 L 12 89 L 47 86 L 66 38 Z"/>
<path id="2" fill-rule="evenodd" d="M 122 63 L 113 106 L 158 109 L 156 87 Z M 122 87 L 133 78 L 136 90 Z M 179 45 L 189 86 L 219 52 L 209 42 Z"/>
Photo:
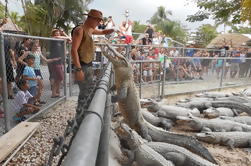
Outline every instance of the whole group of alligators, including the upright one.
<path id="1" fill-rule="evenodd" d="M 126 165 L 213 166 L 216 160 L 198 140 L 231 148 L 251 145 L 251 117 L 238 116 L 251 115 L 246 95 L 210 92 L 176 105 L 140 102 L 130 62 L 107 46 L 110 52 L 102 50 L 115 72 L 112 102 L 118 103 L 124 120 L 115 131 L 128 157 Z M 193 137 L 168 131 L 177 123 L 200 133 Z"/>

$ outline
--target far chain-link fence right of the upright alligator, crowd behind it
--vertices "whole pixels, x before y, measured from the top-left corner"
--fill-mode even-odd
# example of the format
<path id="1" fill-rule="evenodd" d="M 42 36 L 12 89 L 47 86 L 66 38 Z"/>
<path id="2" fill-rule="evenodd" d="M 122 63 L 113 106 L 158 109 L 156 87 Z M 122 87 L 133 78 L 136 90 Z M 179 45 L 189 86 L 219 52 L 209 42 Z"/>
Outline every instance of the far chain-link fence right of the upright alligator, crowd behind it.
<path id="1" fill-rule="evenodd" d="M 141 98 L 248 85 L 250 48 L 206 49 L 114 44 L 128 57 Z"/>

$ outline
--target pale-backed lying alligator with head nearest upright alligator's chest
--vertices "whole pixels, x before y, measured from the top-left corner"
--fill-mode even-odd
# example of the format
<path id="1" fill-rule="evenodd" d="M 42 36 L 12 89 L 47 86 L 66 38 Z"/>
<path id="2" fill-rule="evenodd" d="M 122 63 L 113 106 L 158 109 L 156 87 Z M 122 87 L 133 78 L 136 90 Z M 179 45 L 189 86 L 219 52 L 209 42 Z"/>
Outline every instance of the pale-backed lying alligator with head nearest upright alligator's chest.
<path id="1" fill-rule="evenodd" d="M 176 120 L 176 116 L 188 116 L 191 113 L 194 116 L 200 116 L 200 111 L 198 109 L 188 109 L 183 107 L 178 107 L 174 105 L 159 105 L 156 102 L 147 107 L 150 112 L 157 112 L 160 117 L 170 118 Z"/>

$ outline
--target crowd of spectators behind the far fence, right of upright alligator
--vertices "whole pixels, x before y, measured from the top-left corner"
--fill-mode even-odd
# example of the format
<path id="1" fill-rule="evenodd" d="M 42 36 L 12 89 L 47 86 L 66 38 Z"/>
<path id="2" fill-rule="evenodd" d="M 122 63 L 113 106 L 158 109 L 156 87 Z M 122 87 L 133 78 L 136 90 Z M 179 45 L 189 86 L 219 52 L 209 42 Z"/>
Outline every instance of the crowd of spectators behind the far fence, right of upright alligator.
<path id="1" fill-rule="evenodd" d="M 125 54 L 125 49 L 117 49 Z M 131 59 L 135 69 L 135 81 L 140 80 L 142 70 L 143 82 L 151 82 L 161 78 L 163 70 L 166 72 L 166 80 L 203 80 L 208 76 L 223 78 L 243 78 L 251 76 L 251 49 L 231 48 L 206 50 L 188 48 L 168 48 L 154 46 L 132 46 Z M 227 58 L 226 58 L 227 57 Z M 224 60 L 225 58 L 225 60 Z M 246 59 L 247 58 L 247 59 Z M 165 69 L 164 69 L 164 59 Z M 143 62 L 139 62 L 143 61 Z M 140 69 L 142 63 L 142 69 Z"/>

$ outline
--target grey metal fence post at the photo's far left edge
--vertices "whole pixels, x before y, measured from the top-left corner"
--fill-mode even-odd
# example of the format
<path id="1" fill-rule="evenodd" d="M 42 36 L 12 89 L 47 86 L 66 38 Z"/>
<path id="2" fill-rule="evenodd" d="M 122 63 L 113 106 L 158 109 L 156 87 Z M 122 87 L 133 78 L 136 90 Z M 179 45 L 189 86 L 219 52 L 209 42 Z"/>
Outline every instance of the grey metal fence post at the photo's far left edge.
<path id="1" fill-rule="evenodd" d="M 5 121 L 5 132 L 11 129 L 10 125 L 10 113 L 8 107 L 8 89 L 7 89 L 7 76 L 5 66 L 5 53 L 4 53 L 4 35 L 0 33 L 0 74 L 2 77 L 2 96 L 3 96 L 3 109 L 4 109 L 4 121 Z"/>

